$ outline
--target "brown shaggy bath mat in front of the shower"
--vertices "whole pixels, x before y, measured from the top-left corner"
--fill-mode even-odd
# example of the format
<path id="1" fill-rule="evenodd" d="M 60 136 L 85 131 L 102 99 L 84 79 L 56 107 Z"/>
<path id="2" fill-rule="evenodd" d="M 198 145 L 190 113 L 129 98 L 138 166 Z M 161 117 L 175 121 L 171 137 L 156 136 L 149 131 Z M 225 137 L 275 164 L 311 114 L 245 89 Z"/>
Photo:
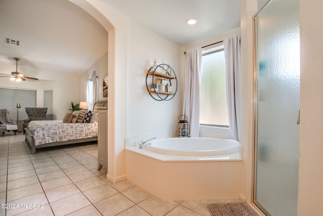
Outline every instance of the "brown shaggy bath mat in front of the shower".
<path id="1" fill-rule="evenodd" d="M 259 216 L 246 202 L 210 203 L 211 216 Z"/>

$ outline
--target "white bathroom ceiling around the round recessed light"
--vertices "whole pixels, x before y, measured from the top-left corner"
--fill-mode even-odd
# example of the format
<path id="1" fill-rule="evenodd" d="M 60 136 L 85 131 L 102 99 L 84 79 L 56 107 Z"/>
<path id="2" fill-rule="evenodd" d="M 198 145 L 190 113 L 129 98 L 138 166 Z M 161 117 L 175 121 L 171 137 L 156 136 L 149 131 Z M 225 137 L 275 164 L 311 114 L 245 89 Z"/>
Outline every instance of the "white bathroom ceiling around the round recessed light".
<path id="1" fill-rule="evenodd" d="M 101 1 L 182 47 L 240 28 L 240 0 Z"/>

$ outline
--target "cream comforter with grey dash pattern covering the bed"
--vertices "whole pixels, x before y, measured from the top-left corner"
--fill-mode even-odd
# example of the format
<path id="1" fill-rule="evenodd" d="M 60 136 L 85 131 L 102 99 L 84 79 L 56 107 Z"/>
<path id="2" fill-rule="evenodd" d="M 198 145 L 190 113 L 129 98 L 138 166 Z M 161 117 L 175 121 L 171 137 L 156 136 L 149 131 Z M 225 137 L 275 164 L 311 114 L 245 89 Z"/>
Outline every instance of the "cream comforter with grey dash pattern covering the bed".
<path id="1" fill-rule="evenodd" d="M 28 128 L 34 134 L 35 146 L 97 137 L 97 122 L 63 123 L 62 120 L 41 120 L 29 122 Z"/>

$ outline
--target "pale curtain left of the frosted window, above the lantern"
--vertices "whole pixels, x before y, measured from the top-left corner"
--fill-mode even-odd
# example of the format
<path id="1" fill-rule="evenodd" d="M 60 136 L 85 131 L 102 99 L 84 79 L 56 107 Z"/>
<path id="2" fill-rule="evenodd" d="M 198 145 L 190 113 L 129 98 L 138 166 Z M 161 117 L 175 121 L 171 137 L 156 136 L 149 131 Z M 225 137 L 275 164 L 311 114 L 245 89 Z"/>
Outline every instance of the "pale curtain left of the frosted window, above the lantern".
<path id="1" fill-rule="evenodd" d="M 201 48 L 186 51 L 183 113 L 187 116 L 191 137 L 199 137 L 201 62 Z"/>

